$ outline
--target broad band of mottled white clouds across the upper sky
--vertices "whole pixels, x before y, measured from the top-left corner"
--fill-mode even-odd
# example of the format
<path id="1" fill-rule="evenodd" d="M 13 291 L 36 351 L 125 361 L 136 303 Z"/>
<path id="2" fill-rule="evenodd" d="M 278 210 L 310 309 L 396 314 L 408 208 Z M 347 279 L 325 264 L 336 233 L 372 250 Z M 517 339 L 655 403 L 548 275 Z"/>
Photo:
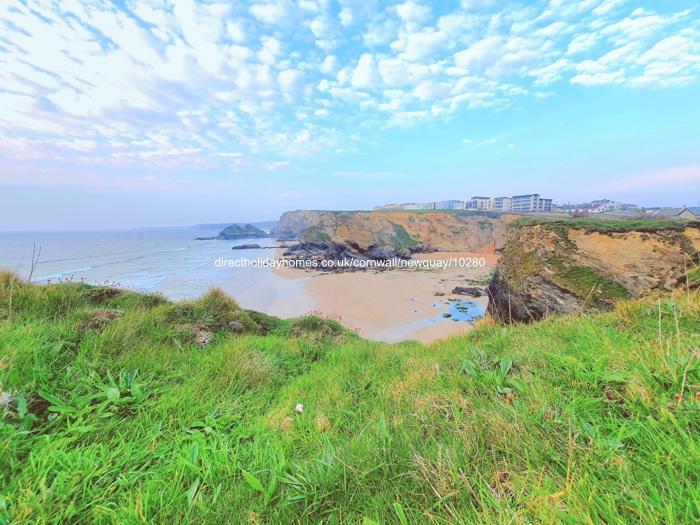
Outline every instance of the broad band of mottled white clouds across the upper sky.
<path id="1" fill-rule="evenodd" d="M 700 73 L 693 17 L 622 0 L 343 2 L 340 14 L 314 0 L 4 3 L 0 155 L 234 169 L 231 152 L 349 152 L 358 129 L 372 140 L 556 96 L 559 82 L 686 85 Z"/>

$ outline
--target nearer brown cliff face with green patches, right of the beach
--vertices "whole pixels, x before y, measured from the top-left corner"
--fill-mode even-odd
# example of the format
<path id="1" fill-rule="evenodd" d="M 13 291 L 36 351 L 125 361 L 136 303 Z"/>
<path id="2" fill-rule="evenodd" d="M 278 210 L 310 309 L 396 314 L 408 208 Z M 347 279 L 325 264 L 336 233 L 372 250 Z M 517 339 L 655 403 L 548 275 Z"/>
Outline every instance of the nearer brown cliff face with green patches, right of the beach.
<path id="1" fill-rule="evenodd" d="M 700 223 L 516 222 L 489 287 L 489 311 L 503 322 L 530 322 L 695 286 L 699 251 Z"/>

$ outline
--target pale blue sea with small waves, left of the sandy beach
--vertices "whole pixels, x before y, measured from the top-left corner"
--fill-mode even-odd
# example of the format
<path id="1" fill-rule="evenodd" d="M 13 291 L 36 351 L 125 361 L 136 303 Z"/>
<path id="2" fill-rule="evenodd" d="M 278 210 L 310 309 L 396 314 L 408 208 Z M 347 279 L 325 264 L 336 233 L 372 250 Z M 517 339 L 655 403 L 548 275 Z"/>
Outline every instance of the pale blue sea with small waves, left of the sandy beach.
<path id="1" fill-rule="evenodd" d="M 197 241 L 220 230 L 158 229 L 109 232 L 0 233 L 0 268 L 30 272 L 32 247 L 41 247 L 32 281 L 58 282 L 72 277 L 88 284 L 119 283 L 137 292 L 161 292 L 179 301 L 219 286 L 232 296 L 256 283 L 280 279 L 268 267 L 217 267 L 216 260 L 267 259 L 275 250 L 232 250 L 238 244 L 277 246 L 273 239 Z M 245 294 L 244 294 L 245 295 Z M 248 294 L 250 295 L 250 294 Z M 246 305 L 243 305 L 246 306 Z M 256 304 L 255 306 L 260 306 Z"/>

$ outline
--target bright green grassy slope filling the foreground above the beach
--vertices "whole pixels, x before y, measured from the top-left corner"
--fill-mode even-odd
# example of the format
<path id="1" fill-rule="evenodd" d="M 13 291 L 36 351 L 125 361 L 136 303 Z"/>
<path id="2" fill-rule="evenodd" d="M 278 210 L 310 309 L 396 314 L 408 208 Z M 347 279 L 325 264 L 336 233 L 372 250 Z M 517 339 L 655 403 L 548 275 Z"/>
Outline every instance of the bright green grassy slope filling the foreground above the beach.
<path id="1" fill-rule="evenodd" d="M 99 290 L 0 275 L 0 523 L 700 521 L 696 295 L 424 347 Z"/>

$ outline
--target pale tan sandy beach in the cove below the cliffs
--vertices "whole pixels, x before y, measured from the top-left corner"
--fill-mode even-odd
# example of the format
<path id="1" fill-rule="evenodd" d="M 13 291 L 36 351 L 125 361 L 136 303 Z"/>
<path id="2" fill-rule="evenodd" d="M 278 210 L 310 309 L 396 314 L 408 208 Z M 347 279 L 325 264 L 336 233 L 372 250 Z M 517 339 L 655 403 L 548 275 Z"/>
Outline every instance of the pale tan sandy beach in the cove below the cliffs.
<path id="1" fill-rule="evenodd" d="M 275 312 L 285 310 L 290 313 L 296 311 L 296 315 L 319 310 L 326 315 L 337 316 L 345 326 L 355 329 L 362 337 L 377 341 L 416 339 L 427 343 L 444 339 L 466 332 L 472 327 L 469 322 L 455 322 L 455 316 L 443 316 L 450 311 L 455 312 L 455 304 L 464 304 L 452 303 L 451 299 L 471 301 L 470 308 L 481 312 L 487 305 L 485 297 L 473 299 L 455 295 L 452 294 L 452 289 L 455 286 L 469 286 L 468 280 L 488 276 L 498 259 L 498 256 L 492 254 L 461 252 L 424 254 L 415 256 L 414 259 L 448 260 L 452 257 L 484 258 L 486 265 L 345 273 L 274 269 L 274 277 L 283 279 L 286 284 L 277 291 L 277 297 L 261 309 L 272 315 L 280 315 Z M 305 293 L 295 299 L 289 294 L 293 290 L 300 291 L 298 286 Z M 294 299 L 297 304 L 282 304 L 288 303 L 290 299 Z"/>

